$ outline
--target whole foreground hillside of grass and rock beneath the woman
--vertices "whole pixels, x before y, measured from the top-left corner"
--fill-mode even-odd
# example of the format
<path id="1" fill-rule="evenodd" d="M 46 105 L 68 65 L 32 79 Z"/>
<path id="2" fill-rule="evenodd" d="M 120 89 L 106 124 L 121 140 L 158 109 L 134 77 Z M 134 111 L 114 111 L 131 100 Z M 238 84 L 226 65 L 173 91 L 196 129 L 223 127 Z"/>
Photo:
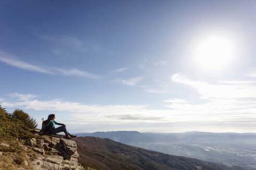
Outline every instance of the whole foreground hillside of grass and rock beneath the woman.
<path id="1" fill-rule="evenodd" d="M 63 135 L 37 135 L 0 106 L 1 170 L 83 170 L 75 141 Z"/>

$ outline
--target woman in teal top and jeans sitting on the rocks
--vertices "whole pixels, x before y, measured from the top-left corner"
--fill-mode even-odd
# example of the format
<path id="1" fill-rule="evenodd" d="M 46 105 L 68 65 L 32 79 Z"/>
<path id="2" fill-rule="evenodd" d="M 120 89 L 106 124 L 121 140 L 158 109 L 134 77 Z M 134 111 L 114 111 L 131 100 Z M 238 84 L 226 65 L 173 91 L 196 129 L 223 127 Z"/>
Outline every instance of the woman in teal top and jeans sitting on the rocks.
<path id="1" fill-rule="evenodd" d="M 67 139 L 71 139 L 73 137 L 76 137 L 75 135 L 71 135 L 70 133 L 68 133 L 67 129 L 66 129 L 66 124 L 63 124 L 63 123 L 58 123 L 56 122 L 55 120 L 55 115 L 54 114 L 51 114 L 48 116 L 48 119 L 47 119 L 47 123 L 43 126 L 43 128 L 41 129 L 41 131 L 38 133 L 40 134 L 41 132 L 44 131 L 44 129 L 47 127 L 47 126 L 50 126 L 50 131 L 49 133 L 51 134 L 56 134 L 56 133 L 59 133 L 59 132 L 64 132 L 65 133 L 65 137 Z M 57 128 L 55 128 L 55 124 L 57 125 L 61 125 Z"/>

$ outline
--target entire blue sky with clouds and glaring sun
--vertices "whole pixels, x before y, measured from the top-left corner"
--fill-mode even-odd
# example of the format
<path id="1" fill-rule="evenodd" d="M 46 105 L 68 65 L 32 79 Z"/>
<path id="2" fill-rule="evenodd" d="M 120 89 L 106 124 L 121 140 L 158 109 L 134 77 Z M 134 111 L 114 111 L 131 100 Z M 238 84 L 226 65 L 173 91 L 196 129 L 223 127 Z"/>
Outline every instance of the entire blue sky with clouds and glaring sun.
<path id="1" fill-rule="evenodd" d="M 0 105 L 72 133 L 256 132 L 256 1 L 1 1 Z"/>

